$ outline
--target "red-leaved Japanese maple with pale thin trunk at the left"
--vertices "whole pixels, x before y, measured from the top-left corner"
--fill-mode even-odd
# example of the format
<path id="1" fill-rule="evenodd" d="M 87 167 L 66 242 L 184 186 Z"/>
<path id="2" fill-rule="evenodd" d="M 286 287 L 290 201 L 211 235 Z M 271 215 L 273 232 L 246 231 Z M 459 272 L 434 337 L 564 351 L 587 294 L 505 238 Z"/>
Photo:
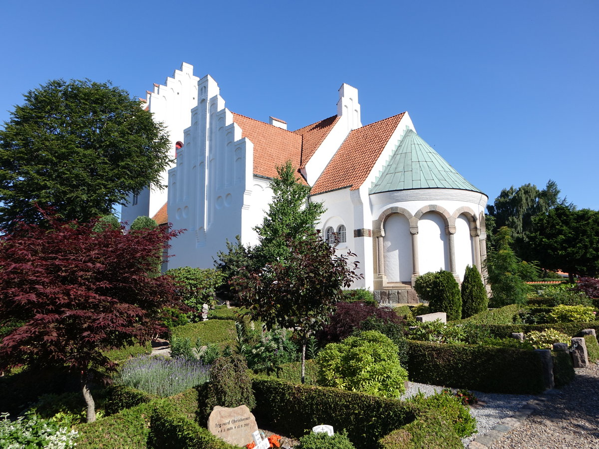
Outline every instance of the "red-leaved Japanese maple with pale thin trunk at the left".
<path id="1" fill-rule="evenodd" d="M 115 368 L 103 353 L 161 330 L 175 304 L 173 284 L 156 277 L 159 248 L 179 231 L 125 232 L 94 223 L 19 223 L 0 236 L 0 370 L 67 366 L 81 374 L 87 421 L 95 420 L 90 383 Z"/>

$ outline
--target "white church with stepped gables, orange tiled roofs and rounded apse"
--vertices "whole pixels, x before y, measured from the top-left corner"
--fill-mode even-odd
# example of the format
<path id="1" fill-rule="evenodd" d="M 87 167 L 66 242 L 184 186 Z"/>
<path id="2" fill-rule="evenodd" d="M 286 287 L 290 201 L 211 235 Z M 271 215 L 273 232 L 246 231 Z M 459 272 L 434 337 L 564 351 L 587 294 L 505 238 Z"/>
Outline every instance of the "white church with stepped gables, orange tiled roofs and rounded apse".
<path id="1" fill-rule="evenodd" d="M 482 271 L 488 197 L 468 183 L 416 133 L 407 112 L 362 125 L 358 90 L 339 89 L 336 113 L 289 131 L 230 111 L 216 81 L 183 63 L 142 100 L 171 136 L 176 165 L 165 191 L 146 189 L 123 207 L 187 229 L 171 241 L 168 268 L 212 268 L 226 239 L 255 245 L 276 167 L 291 160 L 326 212 L 319 229 L 337 250 L 357 254 L 364 279 L 382 303 L 416 302 L 416 277 L 445 269 L 461 280 Z M 334 110 L 332 110 L 334 111 Z"/>

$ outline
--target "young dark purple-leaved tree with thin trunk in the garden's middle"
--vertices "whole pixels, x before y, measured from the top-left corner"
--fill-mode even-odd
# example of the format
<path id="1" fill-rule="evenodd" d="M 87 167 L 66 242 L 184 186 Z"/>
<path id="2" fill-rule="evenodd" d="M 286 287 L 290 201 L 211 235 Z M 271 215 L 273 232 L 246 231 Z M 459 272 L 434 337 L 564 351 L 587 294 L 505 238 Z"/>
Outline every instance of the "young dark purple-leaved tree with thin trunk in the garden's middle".
<path id="1" fill-rule="evenodd" d="M 285 260 L 261 268 L 242 269 L 231 284 L 240 304 L 252 319 L 263 321 L 268 329 L 293 329 L 302 345 L 301 381 L 305 380 L 305 347 L 317 330 L 326 324 L 343 289 L 363 275 L 356 274 L 355 257 L 335 254 L 335 248 L 317 232 L 307 232 L 283 241 L 288 248 Z"/>

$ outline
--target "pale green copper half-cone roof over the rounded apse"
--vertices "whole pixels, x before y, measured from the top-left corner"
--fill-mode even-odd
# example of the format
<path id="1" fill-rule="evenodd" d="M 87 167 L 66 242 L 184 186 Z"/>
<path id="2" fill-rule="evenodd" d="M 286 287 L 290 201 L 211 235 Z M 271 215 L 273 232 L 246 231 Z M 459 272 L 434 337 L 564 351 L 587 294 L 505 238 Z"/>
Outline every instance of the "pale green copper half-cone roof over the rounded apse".
<path id="1" fill-rule="evenodd" d="M 416 132 L 408 129 L 374 181 L 370 193 L 433 188 L 480 192 Z"/>

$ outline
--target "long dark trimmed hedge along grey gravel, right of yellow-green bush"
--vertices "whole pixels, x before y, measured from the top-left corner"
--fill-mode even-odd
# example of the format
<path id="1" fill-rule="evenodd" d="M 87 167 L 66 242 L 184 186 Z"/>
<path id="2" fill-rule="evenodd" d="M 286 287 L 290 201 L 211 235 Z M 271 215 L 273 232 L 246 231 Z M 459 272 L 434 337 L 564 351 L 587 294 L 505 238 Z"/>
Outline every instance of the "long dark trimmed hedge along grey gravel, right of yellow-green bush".
<path id="1" fill-rule="evenodd" d="M 413 382 L 518 395 L 544 390 L 541 360 L 534 351 L 423 341 L 408 341 L 408 347 Z"/>

